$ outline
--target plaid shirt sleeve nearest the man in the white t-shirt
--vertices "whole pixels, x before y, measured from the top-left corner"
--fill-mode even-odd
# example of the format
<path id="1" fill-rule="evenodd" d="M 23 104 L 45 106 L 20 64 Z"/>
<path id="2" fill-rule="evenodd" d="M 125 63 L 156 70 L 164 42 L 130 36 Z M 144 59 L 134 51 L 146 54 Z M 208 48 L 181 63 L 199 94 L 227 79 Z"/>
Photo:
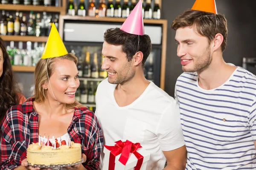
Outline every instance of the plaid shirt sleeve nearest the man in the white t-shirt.
<path id="1" fill-rule="evenodd" d="M 84 167 L 87 170 L 98 170 L 99 169 L 99 157 L 103 147 L 103 135 L 100 128 L 99 122 L 95 114 L 90 113 L 85 115 L 85 141 L 90 141 L 87 150 L 85 149 L 85 155 L 87 156 L 84 162 Z"/>

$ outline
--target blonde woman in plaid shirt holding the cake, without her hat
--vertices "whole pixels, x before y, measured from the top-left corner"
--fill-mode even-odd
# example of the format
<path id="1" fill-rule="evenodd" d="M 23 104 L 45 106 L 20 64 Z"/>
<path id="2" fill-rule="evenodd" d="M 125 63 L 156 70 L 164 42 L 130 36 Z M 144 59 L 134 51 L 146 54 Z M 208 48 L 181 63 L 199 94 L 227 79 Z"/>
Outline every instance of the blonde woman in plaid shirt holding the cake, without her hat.
<path id="1" fill-rule="evenodd" d="M 68 169 L 98 170 L 103 136 L 95 114 L 75 101 L 79 87 L 73 54 L 40 59 L 35 68 L 35 95 L 9 108 L 1 127 L 1 169 L 29 167 L 26 149 L 38 135 L 81 143 L 84 163 Z"/>

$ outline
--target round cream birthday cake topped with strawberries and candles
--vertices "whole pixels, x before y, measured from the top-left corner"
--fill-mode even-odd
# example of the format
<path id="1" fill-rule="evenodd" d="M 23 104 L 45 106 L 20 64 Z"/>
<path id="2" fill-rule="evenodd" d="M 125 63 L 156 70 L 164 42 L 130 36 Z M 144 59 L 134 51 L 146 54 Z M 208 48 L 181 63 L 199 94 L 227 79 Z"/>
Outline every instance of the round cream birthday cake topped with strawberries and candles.
<path id="1" fill-rule="evenodd" d="M 27 161 L 32 166 L 62 165 L 70 166 L 81 161 L 81 144 L 65 140 L 50 142 L 49 139 L 44 144 L 32 143 L 27 149 Z"/>

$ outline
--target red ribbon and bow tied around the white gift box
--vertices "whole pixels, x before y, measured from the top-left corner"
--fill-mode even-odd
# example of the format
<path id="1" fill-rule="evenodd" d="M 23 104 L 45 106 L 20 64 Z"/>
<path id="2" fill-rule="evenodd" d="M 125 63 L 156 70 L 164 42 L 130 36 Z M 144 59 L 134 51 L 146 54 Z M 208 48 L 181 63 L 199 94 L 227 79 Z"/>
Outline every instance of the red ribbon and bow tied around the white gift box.
<path id="1" fill-rule="evenodd" d="M 134 170 L 140 170 L 141 165 L 143 164 L 143 156 L 137 152 L 137 150 L 141 147 L 140 143 L 132 143 L 131 141 L 126 140 L 126 142 L 122 142 L 121 140 L 115 142 L 115 146 L 106 146 L 104 147 L 110 150 L 109 156 L 109 166 L 108 170 L 115 170 L 115 159 L 121 153 L 120 158 L 118 159 L 123 165 L 125 165 L 128 161 L 130 153 L 133 153 L 138 159 L 136 167 Z"/>

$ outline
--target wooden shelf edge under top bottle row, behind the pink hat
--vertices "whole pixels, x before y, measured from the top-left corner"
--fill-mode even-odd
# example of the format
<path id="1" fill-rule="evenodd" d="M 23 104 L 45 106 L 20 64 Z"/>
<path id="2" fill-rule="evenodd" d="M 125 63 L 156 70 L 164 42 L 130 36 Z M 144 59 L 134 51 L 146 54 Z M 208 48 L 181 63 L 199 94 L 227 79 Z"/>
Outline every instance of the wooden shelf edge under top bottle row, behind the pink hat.
<path id="1" fill-rule="evenodd" d="M 126 18 L 115 18 L 115 17 L 83 17 L 83 16 L 70 16 L 70 15 L 61 15 L 61 19 L 64 20 L 88 20 L 88 21 L 105 21 L 105 22 L 118 22 L 118 23 L 123 23 L 125 22 Z M 144 23 L 149 23 L 149 24 L 163 24 L 166 22 L 166 20 L 153 20 L 153 19 L 144 19 Z"/>

